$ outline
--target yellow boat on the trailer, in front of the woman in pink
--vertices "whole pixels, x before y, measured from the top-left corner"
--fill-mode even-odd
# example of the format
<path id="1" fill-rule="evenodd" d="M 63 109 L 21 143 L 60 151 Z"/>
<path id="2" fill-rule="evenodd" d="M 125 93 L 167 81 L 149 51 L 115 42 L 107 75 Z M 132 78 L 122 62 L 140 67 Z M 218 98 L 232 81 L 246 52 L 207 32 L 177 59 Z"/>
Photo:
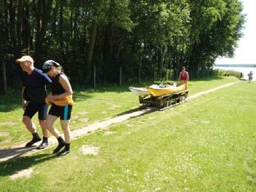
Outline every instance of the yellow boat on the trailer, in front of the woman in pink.
<path id="1" fill-rule="evenodd" d="M 166 85 L 165 87 L 152 85 L 150 87 L 147 87 L 147 89 L 149 93 L 151 93 L 153 96 L 163 96 L 163 95 L 178 93 L 180 91 L 183 91 L 185 90 L 185 85 L 180 85 L 177 87 L 173 85 Z"/>

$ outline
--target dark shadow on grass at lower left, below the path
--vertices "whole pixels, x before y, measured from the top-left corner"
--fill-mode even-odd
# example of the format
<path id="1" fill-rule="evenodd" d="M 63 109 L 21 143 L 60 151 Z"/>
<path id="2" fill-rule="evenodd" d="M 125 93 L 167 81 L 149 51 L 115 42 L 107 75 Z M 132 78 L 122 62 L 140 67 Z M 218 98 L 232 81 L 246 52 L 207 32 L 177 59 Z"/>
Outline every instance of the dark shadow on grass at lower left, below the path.
<path id="1" fill-rule="evenodd" d="M 14 173 L 30 168 L 32 165 L 36 165 L 56 157 L 57 156 L 50 156 L 49 154 L 39 154 L 33 156 L 23 156 L 19 159 L 13 159 L 8 162 L 1 162 L 0 176 L 12 176 Z"/>

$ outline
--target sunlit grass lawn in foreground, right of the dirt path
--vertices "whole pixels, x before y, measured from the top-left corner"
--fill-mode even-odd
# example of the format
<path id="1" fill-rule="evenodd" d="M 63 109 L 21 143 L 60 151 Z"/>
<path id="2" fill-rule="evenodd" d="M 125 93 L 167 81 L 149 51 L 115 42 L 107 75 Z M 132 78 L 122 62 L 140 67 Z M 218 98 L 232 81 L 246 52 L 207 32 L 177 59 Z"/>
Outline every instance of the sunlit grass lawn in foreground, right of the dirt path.
<path id="1" fill-rule="evenodd" d="M 1 191 L 255 191 L 255 89 L 240 82 L 130 119 L 73 141 L 62 158 L 48 148 L 1 163 Z M 83 155 L 84 145 L 99 153 Z M 27 168 L 30 178 L 10 179 Z"/>

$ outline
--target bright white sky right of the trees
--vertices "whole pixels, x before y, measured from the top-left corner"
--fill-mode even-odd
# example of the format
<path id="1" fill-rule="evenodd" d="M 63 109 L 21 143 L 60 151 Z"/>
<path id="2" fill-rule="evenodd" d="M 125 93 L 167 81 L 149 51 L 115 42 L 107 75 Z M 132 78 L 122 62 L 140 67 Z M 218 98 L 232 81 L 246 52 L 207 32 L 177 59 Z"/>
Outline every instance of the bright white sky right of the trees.
<path id="1" fill-rule="evenodd" d="M 246 16 L 243 37 L 238 42 L 234 57 L 218 58 L 216 64 L 256 64 L 256 0 L 241 0 Z"/>

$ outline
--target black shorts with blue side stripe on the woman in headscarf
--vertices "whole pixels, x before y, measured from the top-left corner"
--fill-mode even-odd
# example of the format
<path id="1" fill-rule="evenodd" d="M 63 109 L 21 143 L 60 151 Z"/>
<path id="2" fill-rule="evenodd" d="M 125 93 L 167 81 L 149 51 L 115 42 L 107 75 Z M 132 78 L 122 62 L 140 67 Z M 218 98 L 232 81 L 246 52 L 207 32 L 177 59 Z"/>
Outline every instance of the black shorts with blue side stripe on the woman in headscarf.
<path id="1" fill-rule="evenodd" d="M 69 120 L 71 117 L 72 105 L 58 106 L 51 105 L 49 115 L 60 117 L 61 120 Z"/>

